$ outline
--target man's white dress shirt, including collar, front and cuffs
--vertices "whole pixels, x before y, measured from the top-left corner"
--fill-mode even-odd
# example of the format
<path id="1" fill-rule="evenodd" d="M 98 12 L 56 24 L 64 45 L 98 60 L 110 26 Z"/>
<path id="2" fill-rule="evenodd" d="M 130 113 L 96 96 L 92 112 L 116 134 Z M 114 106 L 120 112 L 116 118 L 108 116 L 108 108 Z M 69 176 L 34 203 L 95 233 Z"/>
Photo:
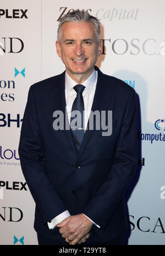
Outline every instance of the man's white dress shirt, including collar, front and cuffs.
<path id="1" fill-rule="evenodd" d="M 95 90 L 96 90 L 96 83 L 97 83 L 97 71 L 94 70 L 92 74 L 89 76 L 85 82 L 81 83 L 82 85 L 85 86 L 85 89 L 83 91 L 83 99 L 84 99 L 84 132 L 87 127 L 87 122 L 89 119 L 89 115 L 91 112 L 91 107 L 92 103 L 94 101 L 94 95 L 95 95 Z M 71 79 L 71 77 L 67 74 L 67 71 L 65 72 L 65 100 L 66 100 L 66 105 L 67 105 L 67 114 L 68 114 L 68 120 L 70 123 L 70 116 L 72 112 L 72 105 L 73 102 L 76 98 L 76 91 L 74 90 L 74 86 L 77 85 L 74 80 Z M 48 222 L 48 227 L 50 229 L 53 229 L 56 227 L 56 225 L 63 221 L 65 218 L 69 217 L 70 213 L 68 210 L 62 212 L 60 215 L 56 216 L 53 218 L 51 222 Z M 86 216 L 86 215 L 85 215 Z M 87 216 L 86 216 L 87 217 Z M 89 217 L 87 217 L 89 218 Z M 92 221 L 90 218 L 89 220 L 94 223 L 98 228 L 98 226 L 94 221 Z"/>

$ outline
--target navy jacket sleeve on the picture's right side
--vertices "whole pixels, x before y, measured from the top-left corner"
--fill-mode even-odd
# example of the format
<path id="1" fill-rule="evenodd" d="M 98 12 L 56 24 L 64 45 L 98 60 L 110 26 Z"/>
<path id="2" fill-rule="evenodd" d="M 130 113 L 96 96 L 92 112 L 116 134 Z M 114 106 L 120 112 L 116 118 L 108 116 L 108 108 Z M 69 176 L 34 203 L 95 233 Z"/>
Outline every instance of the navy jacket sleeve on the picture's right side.
<path id="1" fill-rule="evenodd" d="M 131 90 L 109 174 L 83 213 L 105 228 L 116 211 L 138 163 L 136 93 Z M 113 132 L 113 131 L 112 131 Z"/>

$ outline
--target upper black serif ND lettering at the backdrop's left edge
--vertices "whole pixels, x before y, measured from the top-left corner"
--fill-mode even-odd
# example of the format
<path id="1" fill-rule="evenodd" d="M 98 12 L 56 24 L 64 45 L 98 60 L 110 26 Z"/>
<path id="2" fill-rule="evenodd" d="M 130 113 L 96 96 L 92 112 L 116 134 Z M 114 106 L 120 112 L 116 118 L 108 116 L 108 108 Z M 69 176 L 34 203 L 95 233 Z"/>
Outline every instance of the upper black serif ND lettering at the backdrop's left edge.
<path id="1" fill-rule="evenodd" d="M 4 53 L 21 53 L 23 49 L 24 49 L 24 42 L 20 38 L 2 38 L 1 39 L 0 55 L 3 55 Z"/>

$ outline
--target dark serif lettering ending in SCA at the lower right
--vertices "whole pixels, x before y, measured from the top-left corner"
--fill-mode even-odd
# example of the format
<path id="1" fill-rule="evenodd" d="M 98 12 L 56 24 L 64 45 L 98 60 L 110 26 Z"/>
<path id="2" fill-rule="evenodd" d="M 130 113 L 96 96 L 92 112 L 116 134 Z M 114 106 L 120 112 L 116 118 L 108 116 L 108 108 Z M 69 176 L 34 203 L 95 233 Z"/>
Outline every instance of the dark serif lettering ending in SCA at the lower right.
<path id="1" fill-rule="evenodd" d="M 141 232 L 151 232 L 151 233 L 165 233 L 163 222 L 161 221 L 161 218 L 157 218 L 155 222 L 150 222 L 150 217 L 142 216 L 138 218 L 138 220 L 135 220 L 135 216 L 129 215 L 129 219 L 131 218 L 131 221 L 128 220 L 128 223 L 130 224 L 130 231 L 133 231 L 134 229 L 138 228 Z M 133 222 L 134 221 L 134 222 Z M 151 224 L 152 223 L 152 224 Z"/>

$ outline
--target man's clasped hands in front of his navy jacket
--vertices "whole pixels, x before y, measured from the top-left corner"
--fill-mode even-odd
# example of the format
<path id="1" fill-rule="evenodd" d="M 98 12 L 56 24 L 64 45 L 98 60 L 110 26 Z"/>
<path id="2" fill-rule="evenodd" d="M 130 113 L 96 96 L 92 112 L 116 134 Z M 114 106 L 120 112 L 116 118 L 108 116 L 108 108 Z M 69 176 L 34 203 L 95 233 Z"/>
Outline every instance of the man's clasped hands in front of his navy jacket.
<path id="1" fill-rule="evenodd" d="M 83 213 L 69 216 L 57 224 L 59 233 L 70 245 L 85 243 L 90 237 L 90 230 L 93 223 Z"/>

